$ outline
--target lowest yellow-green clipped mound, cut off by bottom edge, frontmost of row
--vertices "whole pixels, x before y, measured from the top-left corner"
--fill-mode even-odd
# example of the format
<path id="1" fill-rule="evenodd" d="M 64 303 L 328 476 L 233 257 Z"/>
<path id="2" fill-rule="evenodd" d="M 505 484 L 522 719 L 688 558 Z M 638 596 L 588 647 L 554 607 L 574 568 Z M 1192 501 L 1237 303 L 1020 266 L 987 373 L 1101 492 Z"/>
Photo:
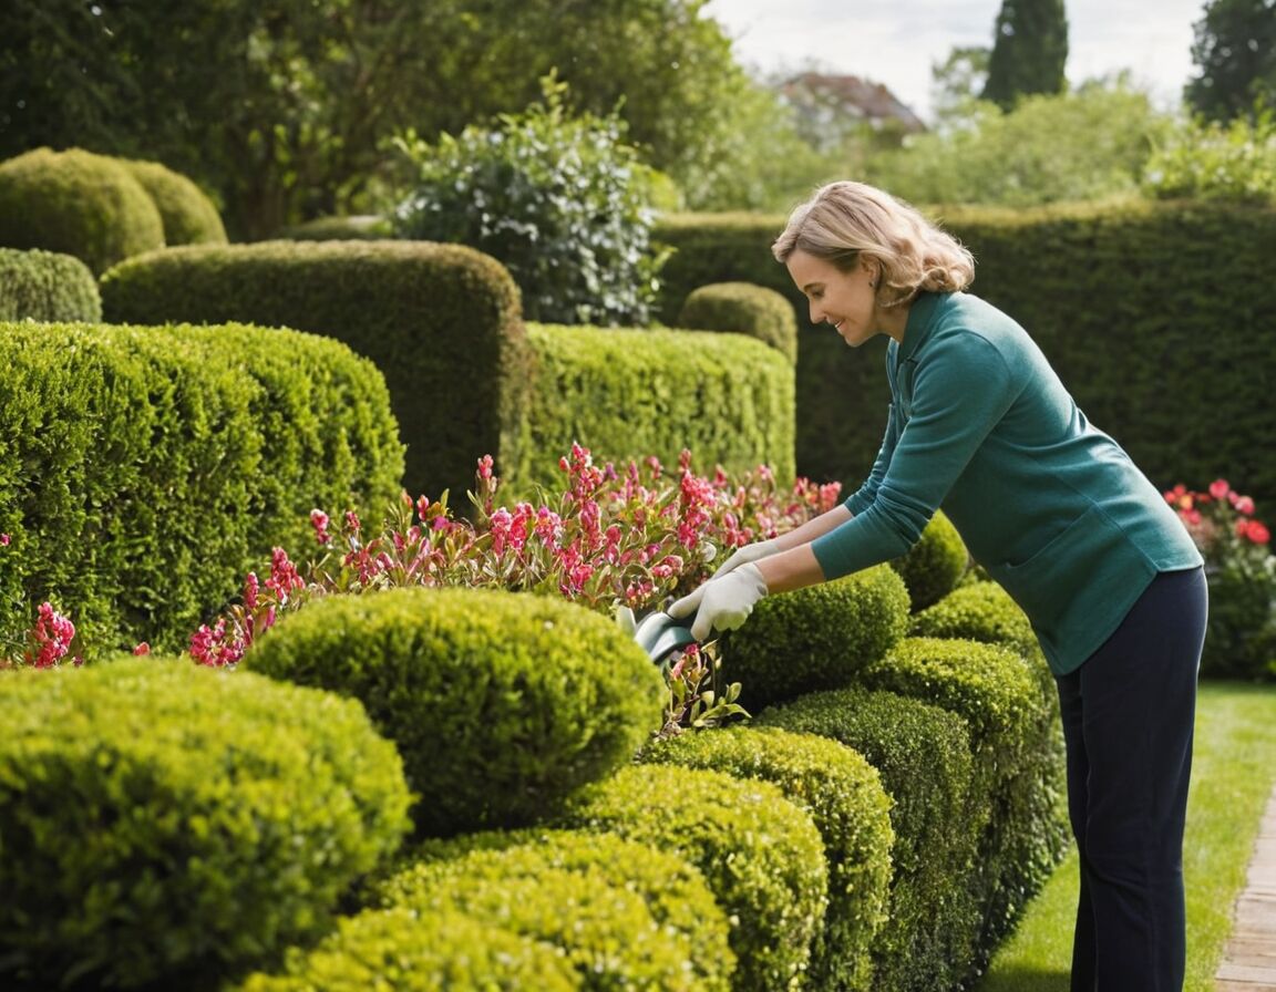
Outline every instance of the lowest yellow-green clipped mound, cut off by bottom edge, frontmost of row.
<path id="1" fill-rule="evenodd" d="M 380 909 L 341 921 L 282 974 L 254 974 L 239 992 L 575 992 L 561 950 L 456 912 Z"/>

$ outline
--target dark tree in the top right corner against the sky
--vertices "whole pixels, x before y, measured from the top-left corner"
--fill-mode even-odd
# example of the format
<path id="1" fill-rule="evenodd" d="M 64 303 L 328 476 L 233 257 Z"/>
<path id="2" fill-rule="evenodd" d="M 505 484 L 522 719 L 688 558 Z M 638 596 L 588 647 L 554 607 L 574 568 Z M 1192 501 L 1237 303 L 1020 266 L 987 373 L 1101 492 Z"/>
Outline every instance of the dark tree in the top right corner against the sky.
<path id="1" fill-rule="evenodd" d="M 1183 91 L 1193 110 L 1226 122 L 1276 107 L 1276 0 L 1212 0 L 1193 29 L 1199 75 Z"/>

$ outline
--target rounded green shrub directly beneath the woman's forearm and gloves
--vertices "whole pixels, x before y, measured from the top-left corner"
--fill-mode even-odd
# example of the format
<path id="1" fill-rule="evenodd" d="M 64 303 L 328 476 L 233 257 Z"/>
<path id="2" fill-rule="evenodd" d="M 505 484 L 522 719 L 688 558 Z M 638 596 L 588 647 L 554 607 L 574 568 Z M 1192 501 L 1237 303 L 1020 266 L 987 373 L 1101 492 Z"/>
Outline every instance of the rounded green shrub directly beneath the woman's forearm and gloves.
<path id="1" fill-rule="evenodd" d="M 722 666 L 750 711 L 840 689 L 909 629 L 909 593 L 879 565 L 831 583 L 769 595 L 744 626 L 722 636 Z"/>

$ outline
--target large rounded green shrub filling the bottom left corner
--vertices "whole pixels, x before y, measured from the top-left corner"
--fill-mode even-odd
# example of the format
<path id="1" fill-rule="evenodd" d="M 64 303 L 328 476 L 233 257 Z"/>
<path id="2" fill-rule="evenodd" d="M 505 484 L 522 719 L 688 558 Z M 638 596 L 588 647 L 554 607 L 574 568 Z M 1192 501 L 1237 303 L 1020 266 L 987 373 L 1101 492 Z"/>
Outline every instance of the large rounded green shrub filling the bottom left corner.
<path id="1" fill-rule="evenodd" d="M 394 747 L 329 692 L 130 657 L 10 675 L 0 723 L 6 988 L 212 987 L 408 829 Z"/>

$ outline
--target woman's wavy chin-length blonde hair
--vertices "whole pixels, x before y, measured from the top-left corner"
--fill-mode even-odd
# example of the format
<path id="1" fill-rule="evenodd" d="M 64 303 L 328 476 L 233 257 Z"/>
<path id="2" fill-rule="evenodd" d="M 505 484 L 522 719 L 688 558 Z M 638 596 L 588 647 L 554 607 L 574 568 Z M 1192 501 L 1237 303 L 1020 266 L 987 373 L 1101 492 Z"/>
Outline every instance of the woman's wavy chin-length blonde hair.
<path id="1" fill-rule="evenodd" d="M 861 258 L 882 266 L 882 306 L 921 289 L 958 292 L 975 279 L 975 256 L 914 207 L 864 182 L 829 182 L 792 212 L 771 246 L 777 261 L 805 251 L 851 272 Z"/>

